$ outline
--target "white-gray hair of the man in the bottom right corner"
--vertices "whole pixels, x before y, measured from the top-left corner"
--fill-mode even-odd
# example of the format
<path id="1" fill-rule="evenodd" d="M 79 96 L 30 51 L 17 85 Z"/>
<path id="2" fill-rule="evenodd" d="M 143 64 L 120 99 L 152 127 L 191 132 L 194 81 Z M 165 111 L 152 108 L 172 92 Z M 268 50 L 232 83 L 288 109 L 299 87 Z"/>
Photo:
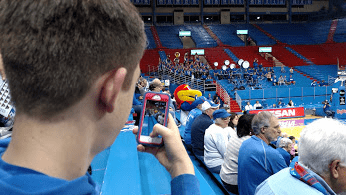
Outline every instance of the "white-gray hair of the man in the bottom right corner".
<path id="1" fill-rule="evenodd" d="M 298 146 L 299 163 L 326 175 L 333 160 L 346 162 L 346 124 L 330 118 L 316 120 L 303 129 Z"/>

